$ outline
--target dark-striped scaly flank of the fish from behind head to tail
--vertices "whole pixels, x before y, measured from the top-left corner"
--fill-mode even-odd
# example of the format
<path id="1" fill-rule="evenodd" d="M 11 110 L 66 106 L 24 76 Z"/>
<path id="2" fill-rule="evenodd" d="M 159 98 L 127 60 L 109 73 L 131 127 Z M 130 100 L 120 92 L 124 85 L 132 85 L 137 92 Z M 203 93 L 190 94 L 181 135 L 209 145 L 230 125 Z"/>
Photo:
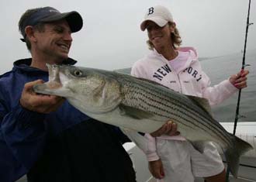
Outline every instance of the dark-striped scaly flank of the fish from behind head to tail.
<path id="1" fill-rule="evenodd" d="M 172 97 L 171 94 L 166 94 L 166 92 L 159 90 L 159 88 L 154 88 L 152 85 L 149 87 L 147 82 L 140 84 L 137 83 L 137 80 L 130 81 L 123 77 L 119 77 L 118 80 L 120 84 L 123 84 L 123 93 L 125 93 L 123 103 L 125 105 L 140 108 L 144 111 L 146 110 L 154 115 L 164 117 L 166 120 L 171 119 L 186 127 L 196 127 L 196 130 L 202 129 L 206 132 L 214 129 L 215 132 L 212 132 L 214 135 L 217 135 L 224 140 L 225 145 L 231 145 L 228 135 L 225 135 L 225 132 L 223 132 L 223 127 L 221 125 L 216 125 L 216 123 L 213 125 L 212 122 L 216 121 L 213 121 L 213 118 L 206 115 L 202 108 L 195 107 L 195 105 L 193 105 L 193 107 L 188 104 L 184 105 L 184 103 L 189 102 L 189 99 L 185 98 L 184 95 L 174 94 L 175 97 Z M 166 104 L 164 104 L 163 101 L 166 101 Z M 157 105 L 160 105 L 159 108 Z M 185 118 L 182 115 L 187 117 Z M 207 135 L 208 134 L 211 133 L 208 132 Z"/>

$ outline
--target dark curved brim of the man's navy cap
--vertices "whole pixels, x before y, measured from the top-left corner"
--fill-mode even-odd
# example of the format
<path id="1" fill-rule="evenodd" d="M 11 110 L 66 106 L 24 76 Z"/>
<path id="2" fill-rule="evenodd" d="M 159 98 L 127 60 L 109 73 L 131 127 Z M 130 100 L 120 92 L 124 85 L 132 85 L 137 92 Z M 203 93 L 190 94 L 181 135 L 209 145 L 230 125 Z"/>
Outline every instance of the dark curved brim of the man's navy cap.
<path id="1" fill-rule="evenodd" d="M 81 18 L 81 15 L 75 11 L 50 15 L 47 18 L 40 19 L 40 22 L 55 22 L 61 19 L 67 20 L 67 23 L 70 26 L 72 33 L 78 32 L 83 26 L 83 19 Z"/>

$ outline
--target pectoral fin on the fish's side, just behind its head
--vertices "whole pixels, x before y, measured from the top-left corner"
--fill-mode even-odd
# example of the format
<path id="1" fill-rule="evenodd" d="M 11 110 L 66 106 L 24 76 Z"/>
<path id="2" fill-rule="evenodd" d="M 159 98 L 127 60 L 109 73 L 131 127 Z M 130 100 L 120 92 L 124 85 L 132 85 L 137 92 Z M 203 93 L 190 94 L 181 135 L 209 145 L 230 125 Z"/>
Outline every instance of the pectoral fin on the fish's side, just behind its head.
<path id="1" fill-rule="evenodd" d="M 154 115 L 150 112 L 145 112 L 139 108 L 133 108 L 127 105 L 119 105 L 120 115 L 128 115 L 131 118 L 143 119 L 152 118 Z"/>

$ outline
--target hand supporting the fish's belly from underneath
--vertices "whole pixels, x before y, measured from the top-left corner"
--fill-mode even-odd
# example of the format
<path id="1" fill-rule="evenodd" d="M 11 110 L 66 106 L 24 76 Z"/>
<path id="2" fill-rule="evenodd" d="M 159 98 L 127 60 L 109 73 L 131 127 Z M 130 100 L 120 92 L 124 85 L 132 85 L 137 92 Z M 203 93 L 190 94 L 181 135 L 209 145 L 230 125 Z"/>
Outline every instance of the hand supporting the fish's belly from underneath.
<path id="1" fill-rule="evenodd" d="M 171 121 L 166 122 L 160 129 L 155 132 L 151 132 L 150 136 L 157 137 L 162 135 L 178 136 L 180 132 L 177 131 L 177 124 Z"/>

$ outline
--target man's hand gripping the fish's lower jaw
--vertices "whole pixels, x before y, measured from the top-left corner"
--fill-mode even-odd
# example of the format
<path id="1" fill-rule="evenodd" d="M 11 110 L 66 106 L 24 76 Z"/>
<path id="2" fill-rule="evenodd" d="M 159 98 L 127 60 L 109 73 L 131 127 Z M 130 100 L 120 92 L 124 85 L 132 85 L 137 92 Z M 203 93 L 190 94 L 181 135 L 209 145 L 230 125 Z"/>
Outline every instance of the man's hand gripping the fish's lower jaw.
<path id="1" fill-rule="evenodd" d="M 65 99 L 55 95 L 36 94 L 33 91 L 35 84 L 43 84 L 43 81 L 32 81 L 24 85 L 19 100 L 20 105 L 33 112 L 50 113 L 56 111 Z"/>

